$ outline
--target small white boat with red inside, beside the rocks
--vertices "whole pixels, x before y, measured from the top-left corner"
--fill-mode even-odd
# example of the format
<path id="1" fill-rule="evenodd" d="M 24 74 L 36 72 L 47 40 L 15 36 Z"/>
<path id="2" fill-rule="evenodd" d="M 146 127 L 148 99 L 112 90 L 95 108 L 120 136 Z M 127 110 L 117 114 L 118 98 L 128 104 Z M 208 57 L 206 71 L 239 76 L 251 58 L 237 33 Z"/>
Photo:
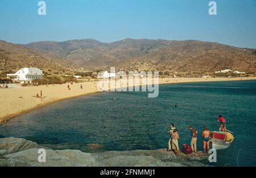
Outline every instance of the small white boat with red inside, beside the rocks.
<path id="1" fill-rule="evenodd" d="M 231 143 L 234 141 L 234 137 L 229 132 L 211 132 L 212 148 L 215 150 L 228 149 Z"/>

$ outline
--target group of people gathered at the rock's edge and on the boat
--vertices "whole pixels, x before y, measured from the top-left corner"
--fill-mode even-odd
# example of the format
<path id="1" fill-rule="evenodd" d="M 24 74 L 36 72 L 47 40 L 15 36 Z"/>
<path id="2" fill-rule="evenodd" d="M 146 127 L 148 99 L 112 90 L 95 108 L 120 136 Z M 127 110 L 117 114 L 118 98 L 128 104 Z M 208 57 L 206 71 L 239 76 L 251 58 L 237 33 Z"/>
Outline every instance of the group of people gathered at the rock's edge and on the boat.
<path id="1" fill-rule="evenodd" d="M 222 117 L 221 115 L 218 116 L 218 123 L 220 123 L 220 132 L 226 132 L 226 120 L 224 117 Z M 193 126 L 189 125 L 188 129 L 191 130 L 191 150 L 192 152 L 197 152 L 197 147 L 196 147 L 196 142 L 197 142 L 197 130 L 195 128 L 193 128 Z M 174 151 L 174 153 L 176 154 L 177 151 L 179 150 L 179 133 L 178 130 L 174 127 L 174 124 L 170 124 L 170 130 L 169 130 L 169 134 L 170 134 L 170 139 L 168 142 L 168 150 L 167 151 Z M 202 133 L 202 139 L 203 139 L 203 148 L 204 148 L 204 153 L 209 154 L 209 145 L 210 145 L 210 131 L 207 128 L 207 126 L 204 126 L 204 130 Z"/>

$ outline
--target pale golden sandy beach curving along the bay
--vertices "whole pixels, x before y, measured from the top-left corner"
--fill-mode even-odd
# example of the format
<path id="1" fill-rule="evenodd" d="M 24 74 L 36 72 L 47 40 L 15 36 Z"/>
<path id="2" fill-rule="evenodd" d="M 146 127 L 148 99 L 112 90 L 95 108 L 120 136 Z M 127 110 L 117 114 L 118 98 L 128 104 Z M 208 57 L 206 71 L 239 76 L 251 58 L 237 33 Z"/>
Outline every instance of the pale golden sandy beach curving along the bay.
<path id="1" fill-rule="evenodd" d="M 184 83 L 184 82 L 210 82 L 210 81 L 229 81 L 229 80 L 255 80 L 256 77 L 243 78 L 159 78 L 159 84 L 164 83 Z M 80 88 L 82 84 L 83 88 Z M 14 88 L 0 88 L 0 123 L 9 121 L 21 113 L 43 107 L 44 105 L 82 95 L 97 93 L 94 82 L 82 82 L 70 84 L 68 90 L 66 84 L 51 84 L 43 86 L 28 86 Z M 43 99 L 36 98 L 42 91 Z"/>

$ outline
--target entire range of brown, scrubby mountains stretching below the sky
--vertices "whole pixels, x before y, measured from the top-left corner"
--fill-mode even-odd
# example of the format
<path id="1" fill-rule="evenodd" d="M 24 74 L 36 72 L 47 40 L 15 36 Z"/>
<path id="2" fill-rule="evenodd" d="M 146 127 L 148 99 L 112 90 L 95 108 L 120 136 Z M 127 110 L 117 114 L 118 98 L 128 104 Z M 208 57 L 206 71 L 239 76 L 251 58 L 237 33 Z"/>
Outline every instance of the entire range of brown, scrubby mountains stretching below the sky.
<path id="1" fill-rule="evenodd" d="M 6 42 L 0 41 L 0 60 L 1 63 L 5 61 L 1 67 L 15 63 L 17 57 L 24 57 L 27 63 L 34 65 L 43 60 L 42 65 L 55 68 L 72 64 L 93 71 L 109 70 L 110 66 L 115 66 L 119 70 L 158 70 L 164 74 L 186 76 L 212 74 L 222 69 L 256 73 L 256 49 L 206 41 L 124 39 L 102 43 L 83 39 L 26 45 L 2 43 Z"/>

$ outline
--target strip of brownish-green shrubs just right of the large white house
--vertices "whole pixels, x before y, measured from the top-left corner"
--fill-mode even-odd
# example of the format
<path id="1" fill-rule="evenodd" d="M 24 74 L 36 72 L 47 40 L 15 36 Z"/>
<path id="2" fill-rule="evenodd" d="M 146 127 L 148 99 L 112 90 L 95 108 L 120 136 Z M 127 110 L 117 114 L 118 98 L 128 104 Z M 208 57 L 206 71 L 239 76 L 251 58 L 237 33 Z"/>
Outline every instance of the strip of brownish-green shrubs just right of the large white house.
<path id="1" fill-rule="evenodd" d="M 77 79 L 72 76 L 48 76 L 44 77 L 43 79 L 34 79 L 32 80 L 32 83 L 38 83 L 38 84 L 62 84 L 66 82 L 76 82 L 78 83 Z"/>

